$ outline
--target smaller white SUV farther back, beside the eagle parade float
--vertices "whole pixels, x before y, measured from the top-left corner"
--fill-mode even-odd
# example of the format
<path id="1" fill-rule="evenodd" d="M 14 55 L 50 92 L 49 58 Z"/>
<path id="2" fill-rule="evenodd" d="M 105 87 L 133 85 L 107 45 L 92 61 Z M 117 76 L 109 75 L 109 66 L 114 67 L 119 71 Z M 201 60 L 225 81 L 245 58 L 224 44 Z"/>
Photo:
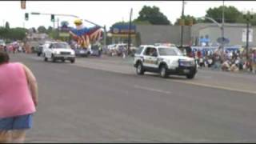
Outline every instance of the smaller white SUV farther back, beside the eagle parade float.
<path id="1" fill-rule="evenodd" d="M 50 58 L 52 62 L 56 62 L 58 59 L 65 62 L 69 60 L 71 63 L 75 62 L 74 50 L 66 42 L 50 42 L 50 46 L 44 47 L 43 57 L 47 62 Z"/>

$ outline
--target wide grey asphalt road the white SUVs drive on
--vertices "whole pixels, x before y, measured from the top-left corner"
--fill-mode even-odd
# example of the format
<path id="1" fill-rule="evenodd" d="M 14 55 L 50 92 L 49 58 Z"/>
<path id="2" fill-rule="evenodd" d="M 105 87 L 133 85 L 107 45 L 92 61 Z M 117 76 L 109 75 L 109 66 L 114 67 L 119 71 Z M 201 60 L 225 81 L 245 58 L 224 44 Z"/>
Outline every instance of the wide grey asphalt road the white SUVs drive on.
<path id="1" fill-rule="evenodd" d="M 163 79 L 138 76 L 118 59 L 10 57 L 38 78 L 26 142 L 256 142 L 256 86 L 242 87 L 255 75 L 199 70 L 194 80 Z"/>

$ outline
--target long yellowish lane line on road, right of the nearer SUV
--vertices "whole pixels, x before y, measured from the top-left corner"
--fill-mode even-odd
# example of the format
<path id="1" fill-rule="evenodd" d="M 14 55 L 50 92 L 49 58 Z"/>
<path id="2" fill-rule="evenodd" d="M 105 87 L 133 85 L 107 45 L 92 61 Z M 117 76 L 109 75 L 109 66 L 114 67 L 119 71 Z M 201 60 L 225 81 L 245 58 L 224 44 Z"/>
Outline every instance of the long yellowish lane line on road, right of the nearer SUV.
<path id="1" fill-rule="evenodd" d="M 214 86 L 214 85 L 210 85 L 210 84 L 204 84 L 204 83 L 198 83 L 198 82 L 188 82 L 188 81 L 179 81 L 179 80 L 167 80 L 167 81 L 186 83 L 186 84 L 196 85 L 196 86 L 205 86 L 205 87 L 222 89 L 222 90 L 231 90 L 231 91 L 237 91 L 237 92 L 242 92 L 242 93 L 256 94 L 256 91 L 239 90 L 239 89 L 234 89 L 234 88 L 230 88 L 230 87 L 226 87 L 226 86 Z"/>

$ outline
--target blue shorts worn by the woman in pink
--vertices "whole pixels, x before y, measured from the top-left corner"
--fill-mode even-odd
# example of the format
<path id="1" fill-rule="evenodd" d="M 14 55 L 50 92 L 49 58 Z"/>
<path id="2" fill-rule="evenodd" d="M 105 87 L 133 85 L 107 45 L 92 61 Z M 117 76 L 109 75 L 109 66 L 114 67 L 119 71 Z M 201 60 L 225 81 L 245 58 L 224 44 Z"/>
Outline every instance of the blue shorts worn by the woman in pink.
<path id="1" fill-rule="evenodd" d="M 0 118 L 0 130 L 24 130 L 32 128 L 32 115 Z"/>

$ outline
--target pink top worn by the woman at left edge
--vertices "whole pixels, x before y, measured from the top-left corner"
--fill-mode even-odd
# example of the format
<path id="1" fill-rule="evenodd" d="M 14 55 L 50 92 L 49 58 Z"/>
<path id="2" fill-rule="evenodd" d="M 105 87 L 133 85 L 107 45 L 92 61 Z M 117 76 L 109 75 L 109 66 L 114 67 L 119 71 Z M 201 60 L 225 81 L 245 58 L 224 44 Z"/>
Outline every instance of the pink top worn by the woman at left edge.
<path id="1" fill-rule="evenodd" d="M 34 113 L 26 73 L 18 62 L 0 65 L 0 118 Z"/>

